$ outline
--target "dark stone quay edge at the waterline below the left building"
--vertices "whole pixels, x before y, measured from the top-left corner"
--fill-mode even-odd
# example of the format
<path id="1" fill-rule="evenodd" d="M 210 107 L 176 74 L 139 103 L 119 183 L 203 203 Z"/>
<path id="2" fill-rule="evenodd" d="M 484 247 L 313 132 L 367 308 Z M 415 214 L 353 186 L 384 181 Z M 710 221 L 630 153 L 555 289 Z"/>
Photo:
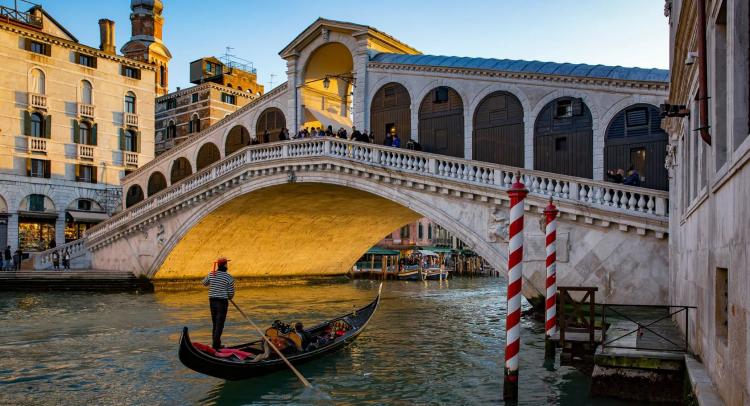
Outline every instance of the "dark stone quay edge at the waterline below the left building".
<path id="1" fill-rule="evenodd" d="M 67 271 L 21 270 L 0 272 L 0 291 L 153 291 L 148 278 L 132 272 L 75 269 Z"/>

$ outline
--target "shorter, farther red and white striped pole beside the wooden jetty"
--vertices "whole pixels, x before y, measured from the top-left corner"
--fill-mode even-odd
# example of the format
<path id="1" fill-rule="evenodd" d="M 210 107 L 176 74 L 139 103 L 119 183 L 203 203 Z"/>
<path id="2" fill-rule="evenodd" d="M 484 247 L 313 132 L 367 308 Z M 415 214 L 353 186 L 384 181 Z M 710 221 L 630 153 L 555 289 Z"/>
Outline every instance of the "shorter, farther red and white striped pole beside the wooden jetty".
<path id="1" fill-rule="evenodd" d="M 557 331 L 557 207 L 549 199 L 544 209 L 545 235 L 547 243 L 547 294 L 544 303 L 544 355 L 555 356 L 555 343 L 552 335 Z"/>

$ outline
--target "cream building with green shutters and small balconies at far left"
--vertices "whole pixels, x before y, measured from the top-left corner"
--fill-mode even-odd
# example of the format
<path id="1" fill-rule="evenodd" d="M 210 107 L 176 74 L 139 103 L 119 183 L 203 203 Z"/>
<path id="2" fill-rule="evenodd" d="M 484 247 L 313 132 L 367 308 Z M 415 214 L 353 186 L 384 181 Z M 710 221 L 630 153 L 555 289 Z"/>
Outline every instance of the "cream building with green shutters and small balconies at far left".
<path id="1" fill-rule="evenodd" d="M 6 9 L 7 10 L 7 9 Z M 41 250 L 119 210 L 154 157 L 155 68 L 78 42 L 41 6 L 0 21 L 0 246 Z"/>

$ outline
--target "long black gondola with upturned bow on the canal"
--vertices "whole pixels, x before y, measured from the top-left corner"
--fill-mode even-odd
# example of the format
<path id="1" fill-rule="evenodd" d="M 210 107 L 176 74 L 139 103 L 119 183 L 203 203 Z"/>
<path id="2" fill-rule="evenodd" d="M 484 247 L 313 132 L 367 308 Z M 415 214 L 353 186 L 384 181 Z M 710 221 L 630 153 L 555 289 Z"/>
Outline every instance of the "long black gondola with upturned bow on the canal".
<path id="1" fill-rule="evenodd" d="M 320 323 L 315 327 L 305 329 L 305 332 L 310 337 L 318 337 L 324 334 L 330 326 L 348 326 L 348 329 L 346 329 L 343 334 L 320 345 L 318 348 L 290 354 L 285 353 L 284 355 L 292 364 L 301 364 L 341 349 L 354 341 L 362 330 L 364 330 L 365 326 L 367 326 L 367 323 L 372 318 L 372 315 L 375 314 L 375 310 L 379 303 L 380 292 L 378 292 L 378 296 L 375 300 L 359 310 Z M 261 343 L 262 340 L 257 340 L 228 348 L 249 352 L 251 354 L 259 354 L 263 352 Z M 209 355 L 193 345 L 192 341 L 190 341 L 187 327 L 183 328 L 182 335 L 180 336 L 179 358 L 183 365 L 196 372 L 230 381 L 254 378 L 278 370 L 288 369 L 284 364 L 284 361 L 275 356 L 264 361 L 250 362 L 247 359 L 241 361 L 235 357 L 220 358 Z"/>

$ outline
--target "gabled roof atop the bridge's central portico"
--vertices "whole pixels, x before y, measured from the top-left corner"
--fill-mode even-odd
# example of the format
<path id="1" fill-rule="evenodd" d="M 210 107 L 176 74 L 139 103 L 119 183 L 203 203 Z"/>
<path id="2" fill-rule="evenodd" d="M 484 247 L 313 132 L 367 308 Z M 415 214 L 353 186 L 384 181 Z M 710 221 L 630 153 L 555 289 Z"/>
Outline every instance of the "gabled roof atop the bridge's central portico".
<path id="1" fill-rule="evenodd" d="M 393 36 L 379 31 L 369 25 L 355 24 L 346 21 L 329 20 L 323 17 L 319 17 L 312 24 L 310 24 L 304 31 L 302 31 L 292 42 L 290 42 L 284 49 L 279 51 L 279 55 L 288 59 L 298 54 L 302 49 L 310 45 L 316 38 L 318 38 L 323 29 L 329 31 L 340 32 L 348 34 L 354 37 L 367 37 L 368 49 L 374 49 L 377 52 L 394 52 L 401 54 L 420 54 L 417 49 L 405 44 Z"/>

